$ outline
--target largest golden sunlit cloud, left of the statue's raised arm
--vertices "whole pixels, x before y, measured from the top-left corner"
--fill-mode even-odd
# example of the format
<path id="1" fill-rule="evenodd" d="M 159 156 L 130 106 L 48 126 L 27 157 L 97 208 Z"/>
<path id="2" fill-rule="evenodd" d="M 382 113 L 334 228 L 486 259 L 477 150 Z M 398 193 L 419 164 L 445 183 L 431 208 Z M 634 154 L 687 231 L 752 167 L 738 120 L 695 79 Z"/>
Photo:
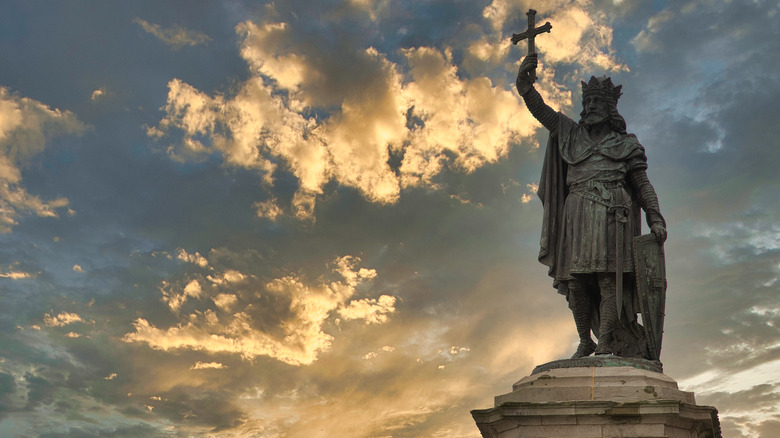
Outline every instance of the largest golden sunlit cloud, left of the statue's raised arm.
<path id="1" fill-rule="evenodd" d="M 473 172 L 535 132 L 512 91 L 487 77 L 461 78 L 448 49 L 405 50 L 404 74 L 403 64 L 374 47 L 323 57 L 293 46 L 287 23 L 244 22 L 237 32 L 254 75 L 232 96 L 171 80 L 165 117 L 150 135 L 179 133 L 173 159 L 217 154 L 226 165 L 258 171 L 267 185 L 289 170 L 298 182 L 292 213 L 300 219 L 313 219 L 329 181 L 394 203 L 405 187 L 435 186 L 447 163 Z M 353 68 L 344 70 L 345 62 Z M 254 207 L 260 217 L 282 214 L 275 200 Z"/>

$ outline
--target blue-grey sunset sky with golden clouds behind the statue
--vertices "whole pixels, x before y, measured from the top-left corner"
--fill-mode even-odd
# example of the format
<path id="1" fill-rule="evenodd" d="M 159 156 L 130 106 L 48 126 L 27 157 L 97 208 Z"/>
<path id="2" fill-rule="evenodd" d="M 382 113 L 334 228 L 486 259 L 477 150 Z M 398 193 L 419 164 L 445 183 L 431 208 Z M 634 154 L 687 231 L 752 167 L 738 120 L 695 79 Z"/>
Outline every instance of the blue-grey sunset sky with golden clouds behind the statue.
<path id="1" fill-rule="evenodd" d="M 780 3 L 0 3 L 0 435 L 477 438 L 569 357 L 547 132 L 623 85 L 664 372 L 780 436 Z M 644 228 L 647 232 L 647 227 Z"/>

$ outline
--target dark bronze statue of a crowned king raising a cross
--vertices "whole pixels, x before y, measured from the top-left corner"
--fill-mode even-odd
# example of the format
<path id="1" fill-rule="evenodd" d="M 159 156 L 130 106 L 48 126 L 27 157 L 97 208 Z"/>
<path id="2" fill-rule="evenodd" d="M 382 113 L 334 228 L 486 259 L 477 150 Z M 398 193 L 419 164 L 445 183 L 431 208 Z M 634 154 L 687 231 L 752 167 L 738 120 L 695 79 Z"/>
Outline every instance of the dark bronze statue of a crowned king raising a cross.
<path id="1" fill-rule="evenodd" d="M 626 132 L 617 111 L 622 85 L 615 86 L 607 77 L 582 82 L 579 122 L 545 104 L 533 86 L 538 64 L 533 38 L 551 26 L 535 28 L 534 14 L 528 13 L 528 30 L 512 39 L 514 43 L 528 39 L 529 49 L 516 85 L 528 110 L 550 131 L 538 190 L 544 206 L 539 261 L 549 267 L 553 286 L 566 297 L 574 315 L 580 342 L 572 358 L 595 353 L 658 360 L 666 222 L 647 178 L 645 150 Z M 662 278 L 655 272 L 651 280 L 658 285 L 655 291 L 636 281 L 640 269 L 643 279 L 649 269 L 658 270 L 647 268 L 658 265 L 657 259 L 648 265 L 643 261 L 646 250 L 635 248 L 642 242 L 635 242 L 641 231 L 640 208 L 654 236 L 651 243 L 660 251 Z M 635 260 L 641 268 L 636 268 Z M 660 327 L 655 320 L 659 314 Z"/>

